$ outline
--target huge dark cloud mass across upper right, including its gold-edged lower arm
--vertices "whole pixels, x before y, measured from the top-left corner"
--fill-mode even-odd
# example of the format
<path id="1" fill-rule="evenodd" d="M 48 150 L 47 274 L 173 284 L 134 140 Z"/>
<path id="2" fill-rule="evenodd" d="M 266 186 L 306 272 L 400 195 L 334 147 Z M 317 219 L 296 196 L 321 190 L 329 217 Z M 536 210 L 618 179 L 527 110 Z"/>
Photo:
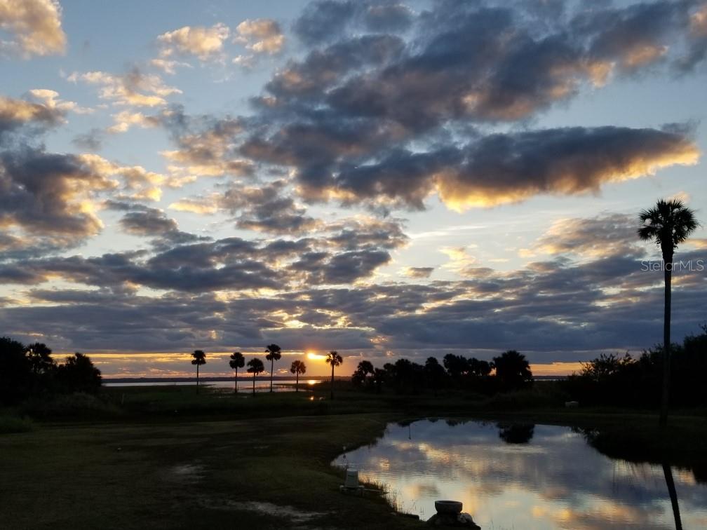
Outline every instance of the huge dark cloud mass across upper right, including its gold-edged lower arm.
<path id="1" fill-rule="evenodd" d="M 371 13 L 403 12 L 414 19 L 405 37 L 365 33 Z M 382 208 L 423 208 L 433 192 L 455 208 L 596 192 L 694 163 L 696 147 L 677 131 L 471 129 L 470 138 L 469 127 L 530 119 L 612 73 L 679 64 L 707 35 L 701 13 L 665 1 L 567 8 L 441 1 L 417 15 L 386 2 L 315 2 L 295 24 L 314 47 L 267 83 L 250 118 L 259 126 L 238 153 L 294 168 L 308 201 Z"/>

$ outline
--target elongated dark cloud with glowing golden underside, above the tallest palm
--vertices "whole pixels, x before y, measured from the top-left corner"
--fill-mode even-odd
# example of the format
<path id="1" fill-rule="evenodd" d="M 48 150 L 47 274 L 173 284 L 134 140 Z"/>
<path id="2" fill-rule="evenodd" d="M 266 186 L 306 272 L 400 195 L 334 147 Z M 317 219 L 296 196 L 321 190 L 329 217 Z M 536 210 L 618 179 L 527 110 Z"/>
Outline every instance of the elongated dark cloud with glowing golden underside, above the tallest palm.
<path id="1" fill-rule="evenodd" d="M 677 131 L 604 126 L 486 136 L 463 152 L 457 168 L 436 178 L 453 208 L 492 206 L 541 193 L 598 192 L 602 184 L 693 165 L 699 150 Z"/>

